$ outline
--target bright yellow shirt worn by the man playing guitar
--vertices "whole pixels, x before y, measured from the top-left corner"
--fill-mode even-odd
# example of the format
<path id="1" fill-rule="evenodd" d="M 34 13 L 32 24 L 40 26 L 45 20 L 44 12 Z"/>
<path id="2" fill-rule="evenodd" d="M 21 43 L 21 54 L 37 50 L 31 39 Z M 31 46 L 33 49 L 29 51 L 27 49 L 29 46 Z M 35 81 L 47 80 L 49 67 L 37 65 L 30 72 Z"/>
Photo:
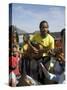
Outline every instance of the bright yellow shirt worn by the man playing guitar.
<path id="1" fill-rule="evenodd" d="M 54 38 L 50 34 L 42 38 L 40 33 L 36 33 L 30 40 L 41 44 L 44 48 L 54 49 Z M 43 53 L 43 56 L 47 56 L 47 53 Z"/>

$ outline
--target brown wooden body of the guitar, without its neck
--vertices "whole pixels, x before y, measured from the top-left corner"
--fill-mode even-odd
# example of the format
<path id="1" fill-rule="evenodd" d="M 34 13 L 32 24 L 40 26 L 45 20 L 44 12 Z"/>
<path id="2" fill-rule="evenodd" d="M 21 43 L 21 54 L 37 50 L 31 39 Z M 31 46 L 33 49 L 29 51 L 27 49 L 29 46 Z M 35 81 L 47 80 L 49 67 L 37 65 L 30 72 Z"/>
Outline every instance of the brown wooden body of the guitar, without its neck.
<path id="1" fill-rule="evenodd" d="M 23 57 L 30 58 L 31 60 L 41 58 L 43 55 L 43 52 L 41 52 L 40 49 L 42 47 L 39 44 L 35 45 L 34 47 L 38 50 L 38 53 L 35 53 L 34 50 L 28 45 L 27 49 L 23 53 Z"/>

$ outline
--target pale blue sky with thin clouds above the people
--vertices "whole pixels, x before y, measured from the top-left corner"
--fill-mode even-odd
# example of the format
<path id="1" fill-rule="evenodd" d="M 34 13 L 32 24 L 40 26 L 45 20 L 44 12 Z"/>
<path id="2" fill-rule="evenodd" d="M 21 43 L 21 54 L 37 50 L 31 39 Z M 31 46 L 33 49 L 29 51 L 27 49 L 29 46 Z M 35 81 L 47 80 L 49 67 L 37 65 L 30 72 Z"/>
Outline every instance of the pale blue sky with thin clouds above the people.
<path id="1" fill-rule="evenodd" d="M 33 4 L 12 4 L 9 9 L 12 25 L 28 33 L 39 31 L 39 24 L 46 20 L 50 32 L 58 32 L 65 28 L 65 7 Z M 12 17 L 11 17 L 12 15 Z"/>

